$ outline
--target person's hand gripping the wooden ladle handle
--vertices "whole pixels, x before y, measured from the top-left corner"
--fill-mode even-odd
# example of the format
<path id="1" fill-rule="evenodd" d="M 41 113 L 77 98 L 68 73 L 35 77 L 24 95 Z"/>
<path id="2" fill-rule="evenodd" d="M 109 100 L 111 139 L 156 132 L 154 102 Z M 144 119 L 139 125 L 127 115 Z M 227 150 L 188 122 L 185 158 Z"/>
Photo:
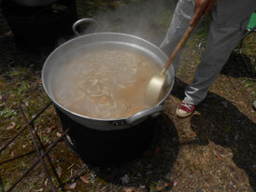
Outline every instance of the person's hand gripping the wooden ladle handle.
<path id="1" fill-rule="evenodd" d="M 207 15 L 210 10 L 216 5 L 216 2 L 217 0 L 195 0 L 194 14 L 190 25 L 195 24 L 202 15 Z"/>

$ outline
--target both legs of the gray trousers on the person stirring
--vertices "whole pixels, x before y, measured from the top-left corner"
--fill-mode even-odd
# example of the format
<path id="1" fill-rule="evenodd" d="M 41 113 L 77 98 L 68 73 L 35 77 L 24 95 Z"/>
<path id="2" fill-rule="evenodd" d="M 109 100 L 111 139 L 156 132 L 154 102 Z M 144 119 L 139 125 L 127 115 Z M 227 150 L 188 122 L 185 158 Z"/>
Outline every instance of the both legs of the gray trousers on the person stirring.
<path id="1" fill-rule="evenodd" d="M 170 56 L 179 39 L 188 29 L 193 16 L 193 8 L 194 0 L 178 1 L 168 32 L 160 45 L 167 56 Z M 220 74 L 221 68 L 239 43 L 249 22 L 249 18 L 247 18 L 231 26 L 220 27 L 217 23 L 216 10 L 217 8 L 214 7 L 211 11 L 212 21 L 206 40 L 205 54 L 196 69 L 192 84 L 185 89 L 184 100 L 195 105 L 206 98 L 207 90 Z M 175 72 L 178 71 L 181 52 L 182 48 L 174 62 L 172 62 Z"/>

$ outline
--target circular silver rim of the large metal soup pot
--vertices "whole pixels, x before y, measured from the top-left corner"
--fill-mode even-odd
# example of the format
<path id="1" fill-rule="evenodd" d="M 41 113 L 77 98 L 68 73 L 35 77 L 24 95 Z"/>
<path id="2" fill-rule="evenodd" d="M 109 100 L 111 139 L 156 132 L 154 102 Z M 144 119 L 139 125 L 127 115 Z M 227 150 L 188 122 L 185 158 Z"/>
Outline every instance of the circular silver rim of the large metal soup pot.
<path id="1" fill-rule="evenodd" d="M 96 117 L 87 117 L 87 116 L 83 116 L 83 115 L 80 115 L 76 112 L 73 112 L 73 111 L 70 111 L 69 109 L 65 108 L 61 103 L 58 103 L 55 98 L 53 96 L 51 96 L 52 94 L 50 94 L 50 91 L 47 89 L 47 86 L 46 86 L 46 83 L 45 83 L 45 71 L 46 71 L 46 63 L 48 63 L 50 61 L 50 58 L 52 57 L 53 54 L 55 54 L 56 51 L 58 51 L 59 49 L 63 48 L 64 46 L 66 46 L 67 44 L 69 44 L 70 42 L 74 41 L 74 40 L 78 40 L 79 38 L 84 38 L 84 36 L 92 36 L 92 35 L 104 35 L 104 34 L 118 34 L 118 35 L 124 35 L 124 36 L 130 36 L 130 37 L 133 37 L 135 39 L 138 39 L 140 41 L 143 41 L 147 44 L 149 44 L 151 47 L 153 48 L 157 48 L 163 55 L 164 55 L 164 58 L 166 59 L 166 61 L 168 60 L 167 56 L 165 55 L 164 51 L 161 50 L 159 47 L 155 46 L 154 44 L 150 43 L 149 41 L 141 38 L 141 37 L 138 37 L 138 36 L 135 36 L 133 34 L 123 34 L 123 33 L 116 33 L 116 32 L 99 32 L 99 33 L 93 33 L 93 34 L 81 34 L 79 36 L 76 36 L 72 39 L 69 39 L 68 41 L 64 42 L 64 44 L 60 45 L 59 47 L 55 48 L 51 53 L 50 55 L 48 56 L 47 60 L 44 62 L 44 65 L 43 65 L 43 68 L 42 68 L 42 84 L 43 84 L 43 88 L 45 89 L 47 95 L 50 97 L 50 100 L 55 104 L 57 105 L 58 108 L 60 108 L 61 110 L 64 110 L 65 112 L 68 112 L 70 114 L 72 114 L 73 116 L 76 116 L 76 117 L 81 117 L 81 118 L 86 118 L 86 119 L 91 119 L 91 120 L 96 120 L 96 121 L 107 121 L 107 122 L 113 122 L 113 121 L 125 121 L 127 118 L 129 117 L 126 117 L 126 118 L 118 118 L 118 119 L 114 119 L 114 118 L 108 118 L 108 119 L 104 119 L 104 118 L 96 118 Z M 173 66 L 171 65 L 170 67 L 173 68 Z M 174 75 L 174 70 L 172 70 L 173 72 L 173 78 L 175 78 L 175 75 Z M 168 92 L 166 93 L 166 95 L 164 96 L 164 98 L 157 104 L 155 104 L 154 106 L 156 105 L 160 105 L 160 104 L 164 104 L 164 101 L 165 99 L 168 97 L 168 95 L 170 94 L 171 90 L 173 89 L 173 86 L 174 86 L 174 79 L 172 80 L 171 82 L 171 85 L 170 85 L 170 89 L 168 90 Z M 153 106 L 152 106 L 153 107 Z M 149 108 L 152 108 L 152 107 L 149 107 Z M 147 109 L 149 109 L 147 108 Z M 147 109 L 144 109 L 142 111 L 139 111 L 138 113 L 141 113 Z M 138 114 L 136 113 L 136 114 Z M 135 116 L 132 115 L 131 117 Z"/>

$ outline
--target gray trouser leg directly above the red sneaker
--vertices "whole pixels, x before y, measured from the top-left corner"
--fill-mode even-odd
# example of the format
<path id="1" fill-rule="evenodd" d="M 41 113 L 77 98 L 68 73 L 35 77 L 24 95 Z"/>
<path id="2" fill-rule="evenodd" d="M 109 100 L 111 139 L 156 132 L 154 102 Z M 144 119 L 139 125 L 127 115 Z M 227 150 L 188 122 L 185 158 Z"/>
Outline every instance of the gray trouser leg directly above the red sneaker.
<path id="1" fill-rule="evenodd" d="M 185 101 L 198 104 L 206 98 L 207 90 L 220 74 L 231 52 L 239 43 L 249 18 L 228 27 L 219 27 L 216 21 L 216 7 L 213 8 L 212 21 L 206 41 L 205 55 L 198 65 L 192 84 L 185 89 Z"/>

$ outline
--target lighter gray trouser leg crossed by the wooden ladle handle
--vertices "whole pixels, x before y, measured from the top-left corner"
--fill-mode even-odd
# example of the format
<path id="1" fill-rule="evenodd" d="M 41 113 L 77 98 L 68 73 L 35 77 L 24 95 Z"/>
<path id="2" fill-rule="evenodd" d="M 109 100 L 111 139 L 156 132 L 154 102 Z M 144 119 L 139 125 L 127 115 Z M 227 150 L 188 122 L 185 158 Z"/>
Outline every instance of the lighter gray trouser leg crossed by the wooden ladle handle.
<path id="1" fill-rule="evenodd" d="M 187 31 L 193 16 L 194 0 L 179 0 L 173 14 L 170 27 L 165 35 L 164 41 L 160 48 L 169 57 L 174 48 L 178 45 L 178 41 Z M 183 46 L 184 48 L 184 46 Z M 178 64 L 182 49 L 180 48 L 178 55 L 172 62 L 175 73 L 178 71 Z"/>

